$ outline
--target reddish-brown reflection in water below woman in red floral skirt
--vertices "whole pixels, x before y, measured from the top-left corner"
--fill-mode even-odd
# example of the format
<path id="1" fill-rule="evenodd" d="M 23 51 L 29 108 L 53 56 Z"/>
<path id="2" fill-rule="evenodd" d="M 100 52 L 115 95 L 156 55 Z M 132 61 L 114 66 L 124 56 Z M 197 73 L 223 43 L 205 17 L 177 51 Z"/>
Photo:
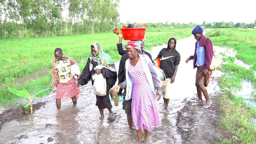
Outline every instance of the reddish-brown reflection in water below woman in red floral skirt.
<path id="1" fill-rule="evenodd" d="M 77 134 L 79 123 L 77 123 L 76 117 L 79 113 L 79 108 L 76 106 L 66 107 L 58 110 L 56 114 L 57 125 L 56 129 L 56 141 L 58 143 L 78 143 Z"/>

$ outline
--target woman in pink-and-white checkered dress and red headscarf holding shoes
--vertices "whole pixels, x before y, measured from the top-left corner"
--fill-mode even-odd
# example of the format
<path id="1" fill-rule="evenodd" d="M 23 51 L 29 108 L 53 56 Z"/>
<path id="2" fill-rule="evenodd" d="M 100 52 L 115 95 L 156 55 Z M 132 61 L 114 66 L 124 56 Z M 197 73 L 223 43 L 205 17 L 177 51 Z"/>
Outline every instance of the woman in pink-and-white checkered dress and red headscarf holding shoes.
<path id="1" fill-rule="evenodd" d="M 116 92 L 126 87 L 126 99 L 132 96 L 131 113 L 133 126 L 137 130 L 138 139 L 142 139 L 142 130 L 145 130 L 145 138 L 150 136 L 153 126 L 160 126 L 161 119 L 156 103 L 161 98 L 161 83 L 154 70 L 150 58 L 137 54 L 140 46 L 135 41 L 126 45 L 126 81 L 115 86 Z"/>

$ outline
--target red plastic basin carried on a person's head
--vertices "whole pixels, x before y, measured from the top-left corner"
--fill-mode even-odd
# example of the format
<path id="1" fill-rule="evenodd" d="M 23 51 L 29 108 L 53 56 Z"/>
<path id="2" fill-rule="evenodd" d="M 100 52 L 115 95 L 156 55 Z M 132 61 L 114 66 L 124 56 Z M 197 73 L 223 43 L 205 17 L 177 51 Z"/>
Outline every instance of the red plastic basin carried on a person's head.
<path id="1" fill-rule="evenodd" d="M 147 28 L 121 28 L 124 40 L 143 40 Z"/>

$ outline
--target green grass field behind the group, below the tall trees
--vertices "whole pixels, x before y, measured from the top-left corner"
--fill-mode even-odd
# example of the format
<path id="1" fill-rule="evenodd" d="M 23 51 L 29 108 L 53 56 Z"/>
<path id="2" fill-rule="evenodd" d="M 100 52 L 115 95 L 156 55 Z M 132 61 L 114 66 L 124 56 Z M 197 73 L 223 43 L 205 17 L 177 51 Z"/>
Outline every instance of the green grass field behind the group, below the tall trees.
<path id="1" fill-rule="evenodd" d="M 169 38 L 187 38 L 191 35 L 193 28 L 172 28 L 168 32 L 147 31 L 145 33 L 146 43 L 144 49 L 151 50 L 152 47 L 167 44 Z M 31 83 L 24 85 L 13 85 L 15 78 L 28 76 L 31 72 L 51 69 L 52 59 L 54 59 L 54 49 L 59 47 L 64 56 L 71 57 L 79 63 L 81 70 L 84 68 L 87 58 L 90 56 L 90 44 L 98 42 L 104 52 L 108 53 L 114 61 L 118 61 L 121 56 L 118 54 L 117 46 L 118 35 L 114 33 L 95 33 L 82 35 L 67 35 L 42 38 L 23 38 L 0 40 L 0 104 L 18 101 L 8 87 L 21 89 L 24 87 L 28 92 L 35 93 L 49 87 L 51 83 L 51 73 L 41 77 Z M 123 41 L 123 45 L 128 41 Z M 151 45 L 148 45 L 151 43 Z"/>

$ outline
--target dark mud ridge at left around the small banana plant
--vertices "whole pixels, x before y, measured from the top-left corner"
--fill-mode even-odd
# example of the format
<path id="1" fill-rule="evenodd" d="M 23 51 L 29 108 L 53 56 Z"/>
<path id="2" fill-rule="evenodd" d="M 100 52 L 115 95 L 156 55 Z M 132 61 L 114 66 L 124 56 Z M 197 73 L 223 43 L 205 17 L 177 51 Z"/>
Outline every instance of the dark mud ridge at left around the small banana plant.
<path id="1" fill-rule="evenodd" d="M 40 107 L 43 105 L 45 105 L 45 102 L 38 102 L 36 104 L 32 104 L 33 112 L 35 112 L 35 110 L 40 109 Z M 10 110 L 5 110 L 0 114 L 0 122 L 1 122 L 0 129 L 2 128 L 2 125 L 4 125 L 4 123 L 23 117 L 29 113 L 30 113 L 30 106 L 28 110 L 24 109 L 24 107 L 21 105 L 18 105 L 16 108 L 12 108 Z"/>

